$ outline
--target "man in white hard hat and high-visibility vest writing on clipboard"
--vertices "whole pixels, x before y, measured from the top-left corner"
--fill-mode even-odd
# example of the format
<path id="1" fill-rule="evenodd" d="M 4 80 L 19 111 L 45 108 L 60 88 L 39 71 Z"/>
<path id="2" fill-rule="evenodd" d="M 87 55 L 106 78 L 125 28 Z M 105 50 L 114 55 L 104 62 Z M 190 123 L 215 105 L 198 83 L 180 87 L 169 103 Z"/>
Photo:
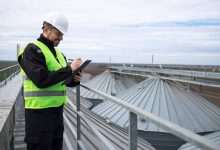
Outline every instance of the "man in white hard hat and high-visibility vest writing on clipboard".
<path id="1" fill-rule="evenodd" d="M 67 32 L 68 20 L 51 14 L 43 21 L 43 33 L 19 53 L 25 103 L 25 142 L 27 150 L 61 150 L 63 106 L 66 86 L 76 86 L 80 74 L 74 72 L 81 59 L 67 65 L 55 47 Z"/>

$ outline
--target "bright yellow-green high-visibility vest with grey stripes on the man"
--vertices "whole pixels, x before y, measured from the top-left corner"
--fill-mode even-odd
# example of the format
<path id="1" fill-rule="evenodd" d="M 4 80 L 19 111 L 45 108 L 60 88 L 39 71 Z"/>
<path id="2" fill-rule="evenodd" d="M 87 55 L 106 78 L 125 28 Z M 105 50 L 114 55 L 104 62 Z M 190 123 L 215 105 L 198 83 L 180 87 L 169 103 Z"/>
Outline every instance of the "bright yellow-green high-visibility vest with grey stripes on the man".
<path id="1" fill-rule="evenodd" d="M 49 48 L 40 41 L 32 42 L 42 52 L 45 57 L 48 71 L 56 71 L 67 66 L 63 54 L 56 49 L 57 59 L 51 53 Z M 18 57 L 23 57 L 22 50 Z M 25 108 L 42 109 L 50 107 L 59 107 L 66 103 L 66 86 L 62 82 L 47 88 L 38 88 L 21 69 L 24 87 Z"/>

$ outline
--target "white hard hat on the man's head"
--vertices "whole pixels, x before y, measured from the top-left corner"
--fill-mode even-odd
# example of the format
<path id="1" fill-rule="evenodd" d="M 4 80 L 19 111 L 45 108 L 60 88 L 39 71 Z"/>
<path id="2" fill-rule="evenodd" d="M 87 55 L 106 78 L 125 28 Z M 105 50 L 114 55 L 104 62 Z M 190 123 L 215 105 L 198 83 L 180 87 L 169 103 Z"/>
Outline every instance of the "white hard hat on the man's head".
<path id="1" fill-rule="evenodd" d="M 67 18 L 59 13 L 50 13 L 44 19 L 45 22 L 51 24 L 63 34 L 67 32 L 69 23 Z"/>

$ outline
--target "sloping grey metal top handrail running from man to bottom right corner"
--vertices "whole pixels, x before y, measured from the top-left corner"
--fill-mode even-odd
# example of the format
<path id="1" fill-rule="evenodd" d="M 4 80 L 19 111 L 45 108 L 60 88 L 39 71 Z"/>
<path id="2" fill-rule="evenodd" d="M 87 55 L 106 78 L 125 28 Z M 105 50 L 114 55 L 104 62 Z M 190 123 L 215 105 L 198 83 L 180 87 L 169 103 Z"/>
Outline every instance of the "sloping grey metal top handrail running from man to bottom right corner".
<path id="1" fill-rule="evenodd" d="M 130 111 L 130 113 L 137 114 L 137 115 L 142 116 L 143 118 L 151 120 L 153 123 L 160 125 L 162 128 L 164 128 L 166 130 L 169 130 L 172 134 L 178 136 L 179 138 L 184 139 L 188 142 L 191 142 L 191 143 L 193 143 L 203 149 L 207 149 L 207 150 L 218 150 L 219 149 L 219 145 L 215 144 L 214 142 L 212 142 L 212 141 L 210 141 L 210 140 L 208 140 L 198 134 L 193 133 L 192 131 L 190 131 L 188 129 L 185 129 L 185 128 L 180 127 L 174 123 L 171 123 L 167 120 L 164 120 L 164 119 L 162 119 L 162 118 L 160 118 L 150 112 L 143 111 L 143 110 L 139 109 L 138 107 L 135 107 L 127 102 L 120 100 L 119 98 L 113 97 L 113 96 L 108 95 L 104 92 L 94 90 L 94 89 L 89 88 L 83 84 L 80 84 L 80 86 L 89 90 L 89 91 L 92 91 L 98 95 L 105 97 L 107 100 L 109 100 L 113 103 L 116 103 L 116 104 L 128 109 Z"/>

